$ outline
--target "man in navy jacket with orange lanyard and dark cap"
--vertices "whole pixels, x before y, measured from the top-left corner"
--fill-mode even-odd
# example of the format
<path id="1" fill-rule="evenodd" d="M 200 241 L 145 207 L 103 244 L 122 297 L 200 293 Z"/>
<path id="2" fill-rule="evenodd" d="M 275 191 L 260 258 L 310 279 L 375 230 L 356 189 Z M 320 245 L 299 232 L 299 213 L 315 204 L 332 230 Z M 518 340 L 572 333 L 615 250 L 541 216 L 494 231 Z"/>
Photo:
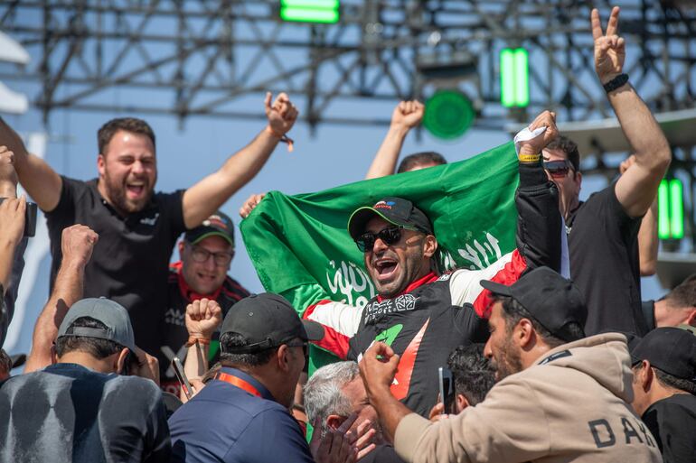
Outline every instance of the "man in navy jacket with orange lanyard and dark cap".
<path id="1" fill-rule="evenodd" d="M 321 326 L 301 321 L 284 298 L 249 296 L 221 327 L 221 370 L 169 419 L 174 461 L 313 461 L 288 412 Z"/>

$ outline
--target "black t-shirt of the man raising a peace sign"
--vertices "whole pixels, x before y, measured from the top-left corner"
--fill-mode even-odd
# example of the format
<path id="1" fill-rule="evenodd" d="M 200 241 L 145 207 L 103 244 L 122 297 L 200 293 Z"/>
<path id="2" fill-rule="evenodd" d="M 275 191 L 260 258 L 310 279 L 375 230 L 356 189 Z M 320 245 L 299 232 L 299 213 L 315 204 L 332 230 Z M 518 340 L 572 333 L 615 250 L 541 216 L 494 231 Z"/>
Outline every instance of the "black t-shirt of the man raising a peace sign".
<path id="1" fill-rule="evenodd" d="M 641 309 L 638 229 L 616 199 L 616 182 L 593 194 L 569 218 L 570 276 L 588 305 L 588 336 L 647 333 Z"/>

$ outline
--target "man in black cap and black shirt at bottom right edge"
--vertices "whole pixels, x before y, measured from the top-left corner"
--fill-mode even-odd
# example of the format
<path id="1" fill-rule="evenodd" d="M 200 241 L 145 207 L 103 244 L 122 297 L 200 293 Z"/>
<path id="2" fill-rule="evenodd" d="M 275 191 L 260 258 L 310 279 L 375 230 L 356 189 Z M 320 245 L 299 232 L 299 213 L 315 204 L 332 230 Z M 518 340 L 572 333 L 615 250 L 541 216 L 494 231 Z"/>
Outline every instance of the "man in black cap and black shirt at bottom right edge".
<path id="1" fill-rule="evenodd" d="M 653 433 L 665 463 L 696 458 L 696 336 L 658 328 L 631 343 L 635 412 Z"/>

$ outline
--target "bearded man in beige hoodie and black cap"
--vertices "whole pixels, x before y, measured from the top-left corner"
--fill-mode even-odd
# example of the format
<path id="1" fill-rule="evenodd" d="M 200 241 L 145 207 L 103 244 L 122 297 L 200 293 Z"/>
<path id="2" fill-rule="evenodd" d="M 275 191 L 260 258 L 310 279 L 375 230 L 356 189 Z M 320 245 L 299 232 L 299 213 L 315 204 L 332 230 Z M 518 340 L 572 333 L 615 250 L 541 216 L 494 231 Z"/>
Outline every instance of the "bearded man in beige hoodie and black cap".
<path id="1" fill-rule="evenodd" d="M 549 268 L 494 293 L 484 347 L 499 382 L 484 402 L 436 423 L 390 394 L 399 357 L 383 343 L 361 374 L 382 431 L 406 461 L 659 462 L 660 451 L 631 399 L 630 356 L 618 333 L 584 338 L 578 288 Z M 381 356 L 378 357 L 378 356 Z"/>

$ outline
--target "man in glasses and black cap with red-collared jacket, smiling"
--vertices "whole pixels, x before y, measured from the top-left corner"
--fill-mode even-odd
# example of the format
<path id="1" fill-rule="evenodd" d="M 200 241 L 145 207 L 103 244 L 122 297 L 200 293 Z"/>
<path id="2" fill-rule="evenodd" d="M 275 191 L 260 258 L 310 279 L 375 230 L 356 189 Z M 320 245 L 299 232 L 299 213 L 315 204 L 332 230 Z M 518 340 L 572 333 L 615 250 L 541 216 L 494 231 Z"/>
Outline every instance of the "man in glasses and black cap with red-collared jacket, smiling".
<path id="1" fill-rule="evenodd" d="M 210 350 L 209 356 L 216 357 L 218 352 L 217 334 L 211 339 L 187 331 L 186 306 L 202 299 L 217 301 L 224 317 L 235 302 L 249 296 L 240 282 L 227 274 L 234 257 L 234 223 L 221 211 L 186 232 L 179 242 L 179 254 L 181 261 L 169 269 L 167 305 L 160 324 L 162 341 L 157 351 L 162 389 L 176 395 L 180 385 L 171 366 L 172 358 L 183 359 L 186 345 L 193 340 L 199 341 L 205 351 L 202 355 Z"/>

